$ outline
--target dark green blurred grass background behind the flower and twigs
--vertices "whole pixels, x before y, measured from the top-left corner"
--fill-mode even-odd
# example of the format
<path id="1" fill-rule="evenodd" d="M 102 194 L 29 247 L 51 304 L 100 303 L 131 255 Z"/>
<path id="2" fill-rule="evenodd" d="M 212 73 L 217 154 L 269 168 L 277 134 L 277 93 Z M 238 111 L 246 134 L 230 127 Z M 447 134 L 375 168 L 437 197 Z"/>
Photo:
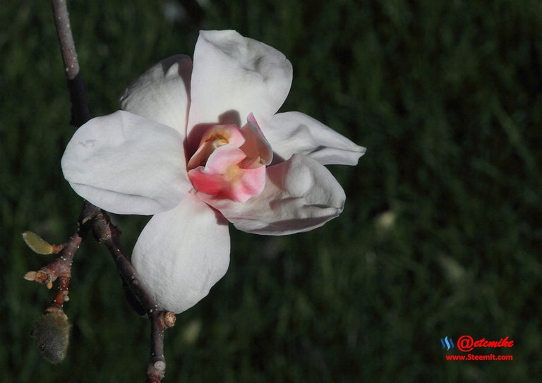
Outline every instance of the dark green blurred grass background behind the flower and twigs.
<path id="1" fill-rule="evenodd" d="M 200 29 L 294 66 L 283 111 L 368 148 L 334 166 L 344 213 L 286 237 L 231 229 L 231 265 L 166 333 L 164 382 L 534 382 L 542 374 L 540 1 L 68 1 L 93 115 Z M 23 280 L 75 229 L 73 134 L 49 1 L 0 6 L 0 382 L 142 382 L 148 321 L 109 253 L 76 255 L 68 357 L 30 329 L 52 291 Z M 115 217 L 131 249 L 142 217 Z M 446 362 L 440 339 L 514 339 L 512 362 Z M 490 352 L 481 350 L 478 352 Z"/>

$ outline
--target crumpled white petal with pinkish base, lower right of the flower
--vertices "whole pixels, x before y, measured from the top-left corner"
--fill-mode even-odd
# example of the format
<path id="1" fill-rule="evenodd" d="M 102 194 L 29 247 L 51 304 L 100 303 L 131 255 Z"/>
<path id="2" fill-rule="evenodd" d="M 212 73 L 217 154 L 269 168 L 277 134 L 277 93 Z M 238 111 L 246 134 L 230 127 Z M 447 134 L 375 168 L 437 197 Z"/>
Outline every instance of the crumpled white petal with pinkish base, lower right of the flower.
<path id="1" fill-rule="evenodd" d="M 325 166 L 294 154 L 287 162 L 267 168 L 263 192 L 247 202 L 198 197 L 248 233 L 283 235 L 309 231 L 337 217 L 344 206 L 344 190 Z"/>

